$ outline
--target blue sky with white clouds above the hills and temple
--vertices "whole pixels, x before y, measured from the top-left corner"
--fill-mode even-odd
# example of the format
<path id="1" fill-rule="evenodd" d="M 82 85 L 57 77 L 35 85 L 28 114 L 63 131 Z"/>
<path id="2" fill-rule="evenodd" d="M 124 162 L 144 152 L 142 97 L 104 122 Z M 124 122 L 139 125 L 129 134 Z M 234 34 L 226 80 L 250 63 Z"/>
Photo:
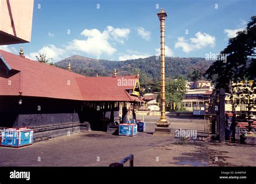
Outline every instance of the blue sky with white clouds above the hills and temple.
<path id="1" fill-rule="evenodd" d="M 228 38 L 246 27 L 256 15 L 255 2 L 35 0 L 31 43 L 23 48 L 31 59 L 43 52 L 53 62 L 74 54 L 108 60 L 157 55 L 160 31 L 156 13 L 164 8 L 168 15 L 166 55 L 204 58 L 207 53 L 219 53 Z M 20 46 L 0 48 L 18 53 Z"/>

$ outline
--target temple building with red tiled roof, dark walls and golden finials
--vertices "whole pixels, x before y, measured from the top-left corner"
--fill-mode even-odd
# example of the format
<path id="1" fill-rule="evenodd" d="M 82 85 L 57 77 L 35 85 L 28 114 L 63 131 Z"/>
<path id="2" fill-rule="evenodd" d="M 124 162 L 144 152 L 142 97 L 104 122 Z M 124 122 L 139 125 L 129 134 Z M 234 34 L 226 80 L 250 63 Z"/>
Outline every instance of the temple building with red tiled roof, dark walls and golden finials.
<path id="1" fill-rule="evenodd" d="M 25 127 L 51 137 L 120 123 L 138 102 L 139 75 L 86 77 L 0 50 L 0 127 Z M 126 112 L 125 112 L 126 113 Z M 129 117 L 131 118 L 131 117 Z M 35 133 L 36 135 L 36 133 Z M 38 136 L 39 137 L 39 136 Z"/>

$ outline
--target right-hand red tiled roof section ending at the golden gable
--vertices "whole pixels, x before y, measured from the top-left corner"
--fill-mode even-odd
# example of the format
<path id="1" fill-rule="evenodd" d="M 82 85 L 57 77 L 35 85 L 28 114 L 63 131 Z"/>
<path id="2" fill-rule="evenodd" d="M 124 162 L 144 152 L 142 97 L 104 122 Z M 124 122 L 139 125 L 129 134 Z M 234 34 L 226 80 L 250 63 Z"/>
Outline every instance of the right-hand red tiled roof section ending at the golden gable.
<path id="1" fill-rule="evenodd" d="M 86 101 L 141 101 L 126 90 L 133 89 L 136 76 L 77 77 L 80 91 Z"/>

